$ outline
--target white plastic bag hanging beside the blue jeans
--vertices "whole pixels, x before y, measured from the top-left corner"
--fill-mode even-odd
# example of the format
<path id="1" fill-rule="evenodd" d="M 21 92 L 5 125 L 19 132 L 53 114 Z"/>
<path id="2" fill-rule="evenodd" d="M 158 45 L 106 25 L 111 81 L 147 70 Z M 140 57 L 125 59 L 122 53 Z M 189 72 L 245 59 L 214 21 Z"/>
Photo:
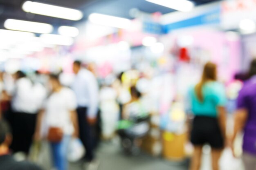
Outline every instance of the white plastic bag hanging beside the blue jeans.
<path id="1" fill-rule="evenodd" d="M 72 139 L 68 148 L 67 159 L 70 162 L 79 161 L 85 155 L 85 148 L 80 139 Z"/>

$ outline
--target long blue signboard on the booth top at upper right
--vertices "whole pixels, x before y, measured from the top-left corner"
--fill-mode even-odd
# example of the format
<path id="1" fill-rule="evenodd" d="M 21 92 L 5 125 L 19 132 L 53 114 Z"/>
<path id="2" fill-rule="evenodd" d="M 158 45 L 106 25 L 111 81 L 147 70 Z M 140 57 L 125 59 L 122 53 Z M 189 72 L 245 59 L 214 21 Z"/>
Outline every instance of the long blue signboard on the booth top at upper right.
<path id="1" fill-rule="evenodd" d="M 220 23 L 220 8 L 214 9 L 202 15 L 187 20 L 167 24 L 164 26 L 164 33 L 169 33 L 175 29 L 186 28 L 189 26 L 198 26 L 205 24 L 219 24 Z"/>

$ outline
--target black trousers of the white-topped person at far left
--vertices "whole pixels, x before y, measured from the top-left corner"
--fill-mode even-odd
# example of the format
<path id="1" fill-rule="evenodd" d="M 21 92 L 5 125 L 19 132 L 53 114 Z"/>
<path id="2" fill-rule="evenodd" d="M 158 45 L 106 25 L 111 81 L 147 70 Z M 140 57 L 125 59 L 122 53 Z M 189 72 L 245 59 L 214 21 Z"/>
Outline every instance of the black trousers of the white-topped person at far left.
<path id="1" fill-rule="evenodd" d="M 11 113 L 10 124 L 13 133 L 11 150 L 15 152 L 29 153 L 36 127 L 36 114 Z"/>

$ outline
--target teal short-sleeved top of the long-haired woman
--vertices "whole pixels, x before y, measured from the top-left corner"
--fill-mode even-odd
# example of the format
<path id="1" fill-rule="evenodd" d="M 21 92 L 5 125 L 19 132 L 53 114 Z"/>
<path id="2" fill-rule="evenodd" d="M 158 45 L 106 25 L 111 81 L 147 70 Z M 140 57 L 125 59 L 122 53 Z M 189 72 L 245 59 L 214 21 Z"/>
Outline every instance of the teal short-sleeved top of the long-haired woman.
<path id="1" fill-rule="evenodd" d="M 218 106 L 225 106 L 227 102 L 225 87 L 218 82 L 208 82 L 204 84 L 202 92 L 203 102 L 198 99 L 195 86 L 189 90 L 190 110 L 197 116 L 218 117 Z"/>

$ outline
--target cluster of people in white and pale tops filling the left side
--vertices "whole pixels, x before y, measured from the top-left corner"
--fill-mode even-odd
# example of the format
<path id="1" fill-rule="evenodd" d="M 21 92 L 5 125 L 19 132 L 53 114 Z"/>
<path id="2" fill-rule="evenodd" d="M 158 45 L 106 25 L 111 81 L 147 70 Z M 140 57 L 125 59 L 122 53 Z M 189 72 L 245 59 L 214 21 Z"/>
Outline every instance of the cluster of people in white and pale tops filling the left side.
<path id="1" fill-rule="evenodd" d="M 22 152 L 27 159 L 33 142 L 47 139 L 54 167 L 67 170 L 69 144 L 77 139 L 86 149 L 82 159 L 89 168 L 97 167 L 94 129 L 99 86 L 93 73 L 82 68 L 81 62 L 74 62 L 73 71 L 69 87 L 61 83 L 62 73 L 1 74 L 0 116 L 11 128 L 13 154 Z"/>

